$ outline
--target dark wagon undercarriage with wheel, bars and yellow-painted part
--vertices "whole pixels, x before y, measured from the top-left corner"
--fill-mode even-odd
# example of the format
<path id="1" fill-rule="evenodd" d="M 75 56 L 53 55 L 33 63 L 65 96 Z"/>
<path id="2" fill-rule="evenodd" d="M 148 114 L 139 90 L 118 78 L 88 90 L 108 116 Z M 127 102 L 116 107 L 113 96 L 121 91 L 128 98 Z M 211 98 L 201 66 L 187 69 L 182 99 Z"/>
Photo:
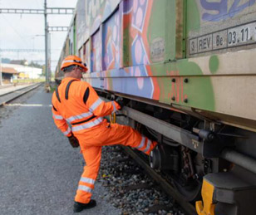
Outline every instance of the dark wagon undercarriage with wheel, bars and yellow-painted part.
<path id="1" fill-rule="evenodd" d="M 115 97 L 104 90 L 98 93 L 106 100 Z M 164 175 L 186 202 L 194 204 L 198 214 L 254 214 L 253 131 L 225 125 L 195 111 L 116 96 L 127 100 L 116 121 L 160 143 L 150 154 L 150 167 Z"/>

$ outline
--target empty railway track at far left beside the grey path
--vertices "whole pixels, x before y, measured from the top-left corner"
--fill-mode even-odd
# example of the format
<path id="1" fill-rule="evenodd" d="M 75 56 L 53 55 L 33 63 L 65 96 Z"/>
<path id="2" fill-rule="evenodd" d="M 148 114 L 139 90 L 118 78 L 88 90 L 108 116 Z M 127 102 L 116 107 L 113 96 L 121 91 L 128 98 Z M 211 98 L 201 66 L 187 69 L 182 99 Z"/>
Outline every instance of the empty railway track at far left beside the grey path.
<path id="1" fill-rule="evenodd" d="M 38 86 L 41 86 L 42 83 L 39 84 L 34 84 L 32 86 L 27 86 L 24 87 L 22 89 L 18 89 L 18 90 L 13 90 L 10 92 L 7 92 L 5 94 L 0 95 L 0 106 L 17 99 L 18 97 L 20 97 L 21 95 L 26 94 L 27 92 L 36 89 Z"/>

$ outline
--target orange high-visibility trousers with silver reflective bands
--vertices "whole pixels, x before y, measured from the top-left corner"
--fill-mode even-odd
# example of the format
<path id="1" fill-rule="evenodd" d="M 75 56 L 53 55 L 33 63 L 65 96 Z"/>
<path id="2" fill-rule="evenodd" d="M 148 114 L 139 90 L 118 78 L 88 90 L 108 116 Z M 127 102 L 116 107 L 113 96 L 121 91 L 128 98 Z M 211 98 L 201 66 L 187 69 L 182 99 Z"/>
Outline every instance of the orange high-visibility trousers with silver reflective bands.
<path id="1" fill-rule="evenodd" d="M 76 191 L 75 201 L 79 203 L 89 203 L 91 191 L 94 188 L 97 174 L 101 163 L 101 146 L 122 144 L 150 154 L 155 148 L 156 142 L 142 136 L 138 131 L 130 126 L 109 124 L 106 120 L 96 126 L 93 131 L 84 134 L 76 134 L 76 138 L 81 145 L 81 152 L 86 161 L 84 172 Z"/>

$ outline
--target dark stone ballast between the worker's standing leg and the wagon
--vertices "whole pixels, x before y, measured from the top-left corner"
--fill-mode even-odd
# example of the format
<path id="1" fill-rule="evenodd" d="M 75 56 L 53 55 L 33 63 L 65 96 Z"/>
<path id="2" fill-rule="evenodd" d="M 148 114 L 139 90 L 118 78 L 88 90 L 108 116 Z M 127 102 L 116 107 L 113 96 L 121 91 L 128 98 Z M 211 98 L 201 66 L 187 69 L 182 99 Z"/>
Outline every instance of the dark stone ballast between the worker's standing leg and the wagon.
<path id="1" fill-rule="evenodd" d="M 101 193 L 124 215 L 189 215 L 194 207 L 182 203 L 175 191 L 135 150 L 122 146 L 103 147 L 98 181 L 107 188 Z"/>

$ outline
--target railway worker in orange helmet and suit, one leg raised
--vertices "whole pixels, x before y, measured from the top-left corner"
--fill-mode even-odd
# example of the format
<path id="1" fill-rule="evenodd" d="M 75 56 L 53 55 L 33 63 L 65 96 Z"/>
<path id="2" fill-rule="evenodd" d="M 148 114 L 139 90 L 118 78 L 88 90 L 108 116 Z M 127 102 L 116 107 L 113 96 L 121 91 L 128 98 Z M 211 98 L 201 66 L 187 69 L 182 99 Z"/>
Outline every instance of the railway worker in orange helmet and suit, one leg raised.
<path id="1" fill-rule="evenodd" d="M 129 126 L 109 124 L 104 116 L 121 110 L 124 102 L 104 102 L 86 81 L 81 81 L 87 71 L 78 56 L 66 56 L 62 61 L 64 79 L 52 95 L 52 116 L 58 129 L 66 135 L 72 147 L 81 147 L 86 166 L 76 191 L 74 212 L 93 208 L 96 201 L 91 191 L 101 162 L 103 145 L 122 144 L 150 154 L 156 142 L 142 136 Z M 71 125 L 71 127 L 69 126 Z"/>

